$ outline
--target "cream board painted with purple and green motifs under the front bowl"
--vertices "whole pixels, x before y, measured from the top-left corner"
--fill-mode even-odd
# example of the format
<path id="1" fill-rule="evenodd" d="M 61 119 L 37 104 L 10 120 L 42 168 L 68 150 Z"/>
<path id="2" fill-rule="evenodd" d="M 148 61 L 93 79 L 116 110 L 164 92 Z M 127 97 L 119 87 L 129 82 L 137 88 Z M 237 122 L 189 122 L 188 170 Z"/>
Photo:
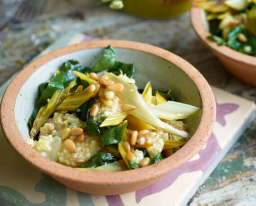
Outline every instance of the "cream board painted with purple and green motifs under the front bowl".
<path id="1" fill-rule="evenodd" d="M 43 53 L 63 43 L 78 43 L 90 39 L 83 34 L 69 33 Z M 0 87 L 0 96 L 8 82 Z M 145 189 L 116 196 L 95 196 L 81 193 L 35 170 L 14 152 L 0 130 L 0 198 L 3 204 L 67 205 L 67 206 L 133 206 L 185 205 L 198 187 L 221 161 L 255 118 L 255 104 L 212 87 L 216 96 L 217 118 L 206 145 L 189 162 Z M 8 157 L 8 158 L 6 158 Z M 1 202 L 0 202 L 1 203 Z"/>

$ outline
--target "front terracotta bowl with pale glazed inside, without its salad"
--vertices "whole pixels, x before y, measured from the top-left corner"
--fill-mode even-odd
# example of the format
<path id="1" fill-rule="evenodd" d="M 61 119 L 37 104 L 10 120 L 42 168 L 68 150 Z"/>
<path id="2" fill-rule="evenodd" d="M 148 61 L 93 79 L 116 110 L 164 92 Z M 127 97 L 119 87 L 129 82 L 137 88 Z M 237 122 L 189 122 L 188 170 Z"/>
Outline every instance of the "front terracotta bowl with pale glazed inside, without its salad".
<path id="1" fill-rule="evenodd" d="M 47 81 L 62 62 L 77 59 L 92 67 L 103 48 L 112 45 L 117 60 L 136 65 L 138 88 L 151 81 L 158 90 L 171 88 L 177 101 L 200 107 L 186 120 L 193 137 L 175 154 L 159 163 L 123 172 L 87 172 L 53 162 L 33 150 L 27 120 L 34 107 L 38 86 Z M 216 118 L 216 103 L 204 77 L 188 62 L 169 51 L 144 43 L 102 40 L 79 43 L 52 51 L 28 64 L 9 84 L 0 107 L 6 138 L 26 161 L 57 181 L 85 193 L 114 195 L 144 188 L 191 159 L 207 142 Z"/>

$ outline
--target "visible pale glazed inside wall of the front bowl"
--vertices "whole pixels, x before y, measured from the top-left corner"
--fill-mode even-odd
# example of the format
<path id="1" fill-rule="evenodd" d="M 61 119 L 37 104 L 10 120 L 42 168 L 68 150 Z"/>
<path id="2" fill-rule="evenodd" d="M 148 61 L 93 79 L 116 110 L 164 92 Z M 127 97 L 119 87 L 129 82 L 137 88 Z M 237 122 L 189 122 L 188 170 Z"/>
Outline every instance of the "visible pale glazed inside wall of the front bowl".
<path id="1" fill-rule="evenodd" d="M 176 101 L 202 108 L 202 101 L 194 82 L 175 64 L 143 51 L 115 48 L 117 60 L 134 63 L 135 79 L 138 88 L 144 88 L 148 81 L 154 90 L 171 89 Z M 41 66 L 23 84 L 15 101 L 14 116 L 18 130 L 23 138 L 29 138 L 28 119 L 38 97 L 38 86 L 46 82 L 60 65 L 70 59 L 79 60 L 80 64 L 93 67 L 102 55 L 103 48 L 94 48 L 69 53 Z M 33 64 L 33 63 L 32 63 Z M 185 120 L 192 135 L 201 119 L 202 109 Z"/>

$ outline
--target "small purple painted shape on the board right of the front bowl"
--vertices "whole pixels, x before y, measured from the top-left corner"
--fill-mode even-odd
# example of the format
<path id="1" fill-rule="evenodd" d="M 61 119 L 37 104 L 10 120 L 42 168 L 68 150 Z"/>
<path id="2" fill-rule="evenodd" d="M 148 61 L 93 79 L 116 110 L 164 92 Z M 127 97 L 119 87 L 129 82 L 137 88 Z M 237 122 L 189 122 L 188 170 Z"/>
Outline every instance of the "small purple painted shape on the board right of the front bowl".
<path id="1" fill-rule="evenodd" d="M 225 115 L 235 112 L 239 108 L 239 105 L 233 103 L 218 104 L 216 101 L 216 107 L 216 122 L 220 123 L 224 127 L 226 125 Z"/>

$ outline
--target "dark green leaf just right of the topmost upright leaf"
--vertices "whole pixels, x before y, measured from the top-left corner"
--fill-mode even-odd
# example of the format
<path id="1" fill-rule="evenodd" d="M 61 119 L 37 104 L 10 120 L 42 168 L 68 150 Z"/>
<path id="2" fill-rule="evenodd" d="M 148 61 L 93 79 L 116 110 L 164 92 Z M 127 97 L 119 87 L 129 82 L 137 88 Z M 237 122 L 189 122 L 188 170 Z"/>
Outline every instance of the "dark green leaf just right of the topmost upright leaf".
<path id="1" fill-rule="evenodd" d="M 116 61 L 113 68 L 109 69 L 108 72 L 114 73 L 117 76 L 120 73 L 123 73 L 123 74 L 126 74 L 126 76 L 129 78 L 133 78 L 135 73 L 135 65 L 125 64 L 125 63 Z"/>

